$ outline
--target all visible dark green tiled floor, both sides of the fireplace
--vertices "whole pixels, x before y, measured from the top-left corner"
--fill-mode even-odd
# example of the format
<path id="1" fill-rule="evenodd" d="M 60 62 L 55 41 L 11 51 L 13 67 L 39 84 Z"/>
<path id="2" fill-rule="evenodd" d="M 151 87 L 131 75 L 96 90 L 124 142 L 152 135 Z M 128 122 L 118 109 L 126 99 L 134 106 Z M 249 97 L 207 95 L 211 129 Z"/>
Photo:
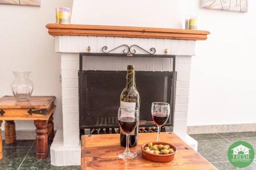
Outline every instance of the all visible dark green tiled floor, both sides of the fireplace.
<path id="1" fill-rule="evenodd" d="M 245 168 L 236 168 L 227 159 L 227 150 L 234 141 L 247 141 L 256 151 L 256 132 L 194 134 L 190 136 L 198 141 L 198 152 L 219 170 L 256 170 L 256 157 L 254 162 Z M 18 140 L 14 144 L 5 144 L 3 141 L 3 154 L 4 158 L 0 160 L 0 170 L 80 169 L 80 166 L 53 166 L 50 163 L 50 154 L 47 159 L 36 159 L 34 140 Z"/>

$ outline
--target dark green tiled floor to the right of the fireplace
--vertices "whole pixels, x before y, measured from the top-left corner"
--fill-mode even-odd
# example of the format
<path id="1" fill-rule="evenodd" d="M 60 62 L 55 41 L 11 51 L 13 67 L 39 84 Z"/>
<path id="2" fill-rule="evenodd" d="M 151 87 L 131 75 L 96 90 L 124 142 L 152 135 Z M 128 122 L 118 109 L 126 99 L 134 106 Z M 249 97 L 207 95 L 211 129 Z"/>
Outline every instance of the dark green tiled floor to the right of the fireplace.
<path id="1" fill-rule="evenodd" d="M 198 152 L 219 170 L 256 170 L 256 156 L 245 168 L 234 167 L 227 158 L 230 145 L 239 140 L 247 141 L 256 151 L 256 132 L 234 132 L 190 135 L 198 141 Z"/>

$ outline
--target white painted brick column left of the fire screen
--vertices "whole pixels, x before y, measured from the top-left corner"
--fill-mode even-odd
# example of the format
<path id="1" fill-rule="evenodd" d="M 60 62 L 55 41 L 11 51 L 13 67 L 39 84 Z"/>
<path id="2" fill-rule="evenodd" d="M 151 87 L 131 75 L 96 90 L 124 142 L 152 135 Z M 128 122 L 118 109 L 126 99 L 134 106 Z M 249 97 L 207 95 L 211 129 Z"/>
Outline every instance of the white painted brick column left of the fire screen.
<path id="1" fill-rule="evenodd" d="M 79 144 L 78 105 L 79 54 L 61 54 L 63 143 L 65 146 Z"/>

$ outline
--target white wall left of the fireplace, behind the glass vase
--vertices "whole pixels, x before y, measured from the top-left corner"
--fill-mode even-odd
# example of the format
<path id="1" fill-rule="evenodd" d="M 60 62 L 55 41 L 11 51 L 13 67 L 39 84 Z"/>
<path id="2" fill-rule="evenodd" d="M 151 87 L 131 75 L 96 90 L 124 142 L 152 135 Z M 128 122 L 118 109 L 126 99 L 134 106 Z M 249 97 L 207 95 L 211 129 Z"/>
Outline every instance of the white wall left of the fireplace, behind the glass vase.
<path id="1" fill-rule="evenodd" d="M 57 97 L 55 129 L 62 126 L 60 55 L 45 26 L 55 22 L 56 7 L 72 7 L 72 1 L 42 0 L 41 7 L 0 5 L 0 96 L 11 95 L 13 70 L 32 71 L 33 95 Z M 16 122 L 16 129 L 35 128 L 33 122 Z"/>

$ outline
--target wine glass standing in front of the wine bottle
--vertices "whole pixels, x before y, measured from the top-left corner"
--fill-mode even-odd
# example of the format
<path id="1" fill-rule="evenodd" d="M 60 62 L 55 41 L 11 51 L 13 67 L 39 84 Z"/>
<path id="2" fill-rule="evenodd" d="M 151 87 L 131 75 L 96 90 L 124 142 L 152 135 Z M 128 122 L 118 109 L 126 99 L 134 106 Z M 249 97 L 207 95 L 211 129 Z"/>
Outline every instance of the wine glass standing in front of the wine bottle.
<path id="1" fill-rule="evenodd" d="M 132 159 L 137 156 L 135 152 L 130 152 L 129 150 L 129 137 L 134 131 L 139 120 L 139 110 L 138 108 L 131 109 L 127 107 L 119 107 L 118 109 L 118 123 L 120 128 L 126 134 L 126 149 L 125 151 L 119 152 L 117 155 L 121 159 Z"/>

